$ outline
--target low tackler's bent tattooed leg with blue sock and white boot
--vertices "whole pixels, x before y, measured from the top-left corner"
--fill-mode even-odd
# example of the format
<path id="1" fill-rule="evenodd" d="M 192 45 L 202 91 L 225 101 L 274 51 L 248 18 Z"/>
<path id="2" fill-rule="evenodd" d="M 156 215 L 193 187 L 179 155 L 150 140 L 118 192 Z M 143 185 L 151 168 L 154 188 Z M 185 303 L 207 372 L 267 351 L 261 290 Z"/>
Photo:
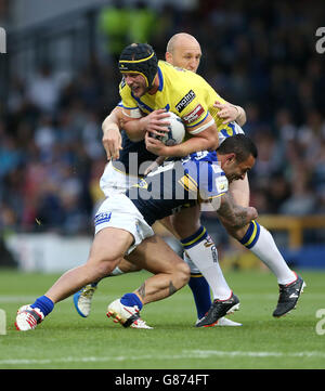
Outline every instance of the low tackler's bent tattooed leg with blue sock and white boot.
<path id="1" fill-rule="evenodd" d="M 143 305 L 173 295 L 190 278 L 187 264 L 156 235 L 145 239 L 128 259 L 154 275 L 133 292 L 108 304 L 107 316 L 125 327 L 143 322 L 140 318 Z"/>

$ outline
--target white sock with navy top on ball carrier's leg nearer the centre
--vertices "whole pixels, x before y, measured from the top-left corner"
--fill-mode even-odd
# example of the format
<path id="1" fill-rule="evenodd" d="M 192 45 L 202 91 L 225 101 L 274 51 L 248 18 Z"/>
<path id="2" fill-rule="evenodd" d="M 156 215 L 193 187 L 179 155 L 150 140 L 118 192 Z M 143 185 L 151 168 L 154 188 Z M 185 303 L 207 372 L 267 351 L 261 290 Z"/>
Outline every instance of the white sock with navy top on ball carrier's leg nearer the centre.
<path id="1" fill-rule="evenodd" d="M 232 295 L 218 262 L 217 248 L 202 226 L 194 235 L 181 240 L 187 257 L 204 275 L 212 290 L 213 299 L 225 300 Z"/>

